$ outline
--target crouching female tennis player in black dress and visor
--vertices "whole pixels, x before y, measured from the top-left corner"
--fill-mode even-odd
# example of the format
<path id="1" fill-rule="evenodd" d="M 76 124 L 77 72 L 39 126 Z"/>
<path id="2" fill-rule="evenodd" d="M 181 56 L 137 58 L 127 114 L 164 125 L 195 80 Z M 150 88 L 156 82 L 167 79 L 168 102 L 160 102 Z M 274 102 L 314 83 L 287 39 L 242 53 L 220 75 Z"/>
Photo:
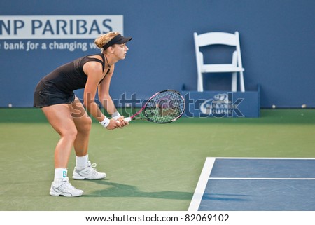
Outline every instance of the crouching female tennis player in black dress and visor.
<path id="1" fill-rule="evenodd" d="M 100 54 L 80 57 L 73 62 L 58 67 L 43 77 L 34 92 L 34 107 L 39 107 L 50 125 L 60 135 L 55 148 L 55 178 L 50 188 L 51 196 L 81 196 L 83 191 L 69 183 L 67 165 L 71 149 L 76 152 L 76 167 L 73 179 L 103 179 L 106 173 L 97 172 L 87 154 L 92 119 L 85 108 L 107 130 L 128 125 L 120 116 L 109 95 L 111 77 L 115 64 L 124 60 L 126 43 L 132 37 L 124 37 L 118 32 L 99 36 L 94 43 L 101 49 Z M 83 104 L 73 90 L 84 88 Z M 104 116 L 94 101 L 98 93 L 104 109 L 111 119 Z"/>

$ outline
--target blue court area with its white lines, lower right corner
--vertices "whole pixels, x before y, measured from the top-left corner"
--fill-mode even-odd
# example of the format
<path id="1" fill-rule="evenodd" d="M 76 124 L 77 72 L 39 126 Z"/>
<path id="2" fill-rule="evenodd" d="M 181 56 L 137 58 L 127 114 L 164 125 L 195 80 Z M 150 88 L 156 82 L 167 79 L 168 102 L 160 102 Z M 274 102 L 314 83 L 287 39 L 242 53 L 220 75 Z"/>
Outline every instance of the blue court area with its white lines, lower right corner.
<path id="1" fill-rule="evenodd" d="M 207 158 L 190 211 L 315 211 L 315 158 Z"/>

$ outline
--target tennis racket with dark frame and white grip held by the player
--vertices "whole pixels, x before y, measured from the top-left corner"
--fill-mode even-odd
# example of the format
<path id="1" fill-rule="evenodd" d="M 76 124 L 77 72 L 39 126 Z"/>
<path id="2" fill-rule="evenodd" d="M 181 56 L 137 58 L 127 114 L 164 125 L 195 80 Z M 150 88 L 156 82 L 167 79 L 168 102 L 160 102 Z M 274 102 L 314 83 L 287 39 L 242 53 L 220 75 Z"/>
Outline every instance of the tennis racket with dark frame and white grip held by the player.
<path id="1" fill-rule="evenodd" d="M 179 119 L 184 110 L 185 100 L 181 93 L 177 90 L 162 90 L 150 97 L 144 107 L 136 114 L 125 118 L 125 121 L 144 119 L 153 123 L 171 123 Z"/>

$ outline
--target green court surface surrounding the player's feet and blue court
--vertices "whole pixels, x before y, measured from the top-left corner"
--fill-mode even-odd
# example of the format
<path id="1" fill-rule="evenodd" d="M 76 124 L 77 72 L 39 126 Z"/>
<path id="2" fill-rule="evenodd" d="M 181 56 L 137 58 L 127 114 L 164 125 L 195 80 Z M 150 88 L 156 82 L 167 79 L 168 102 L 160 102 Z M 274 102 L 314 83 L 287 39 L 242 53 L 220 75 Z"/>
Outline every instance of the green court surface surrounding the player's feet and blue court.
<path id="1" fill-rule="evenodd" d="M 132 121 L 113 131 L 94 122 L 89 156 L 98 181 L 71 178 L 78 198 L 49 195 L 59 137 L 40 109 L 0 109 L 0 210 L 188 210 L 207 157 L 315 157 L 314 109 L 262 109 L 260 118 Z M 314 171 L 315 172 L 315 171 Z M 237 187 L 235 187 L 237 189 Z"/>

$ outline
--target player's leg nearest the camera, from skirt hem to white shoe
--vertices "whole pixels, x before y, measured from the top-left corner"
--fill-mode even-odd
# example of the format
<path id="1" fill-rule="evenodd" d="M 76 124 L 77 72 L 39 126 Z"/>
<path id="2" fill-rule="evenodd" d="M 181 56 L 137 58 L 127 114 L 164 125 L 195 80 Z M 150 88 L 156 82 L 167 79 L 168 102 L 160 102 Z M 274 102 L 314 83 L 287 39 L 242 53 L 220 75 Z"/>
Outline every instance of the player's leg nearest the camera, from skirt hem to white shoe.
<path id="1" fill-rule="evenodd" d="M 55 148 L 55 178 L 50 188 L 52 196 L 74 197 L 83 195 L 83 191 L 74 188 L 69 183 L 67 166 L 73 143 L 76 139 L 76 125 L 71 117 L 68 104 L 55 104 L 42 108 L 52 128 L 60 135 Z"/>

